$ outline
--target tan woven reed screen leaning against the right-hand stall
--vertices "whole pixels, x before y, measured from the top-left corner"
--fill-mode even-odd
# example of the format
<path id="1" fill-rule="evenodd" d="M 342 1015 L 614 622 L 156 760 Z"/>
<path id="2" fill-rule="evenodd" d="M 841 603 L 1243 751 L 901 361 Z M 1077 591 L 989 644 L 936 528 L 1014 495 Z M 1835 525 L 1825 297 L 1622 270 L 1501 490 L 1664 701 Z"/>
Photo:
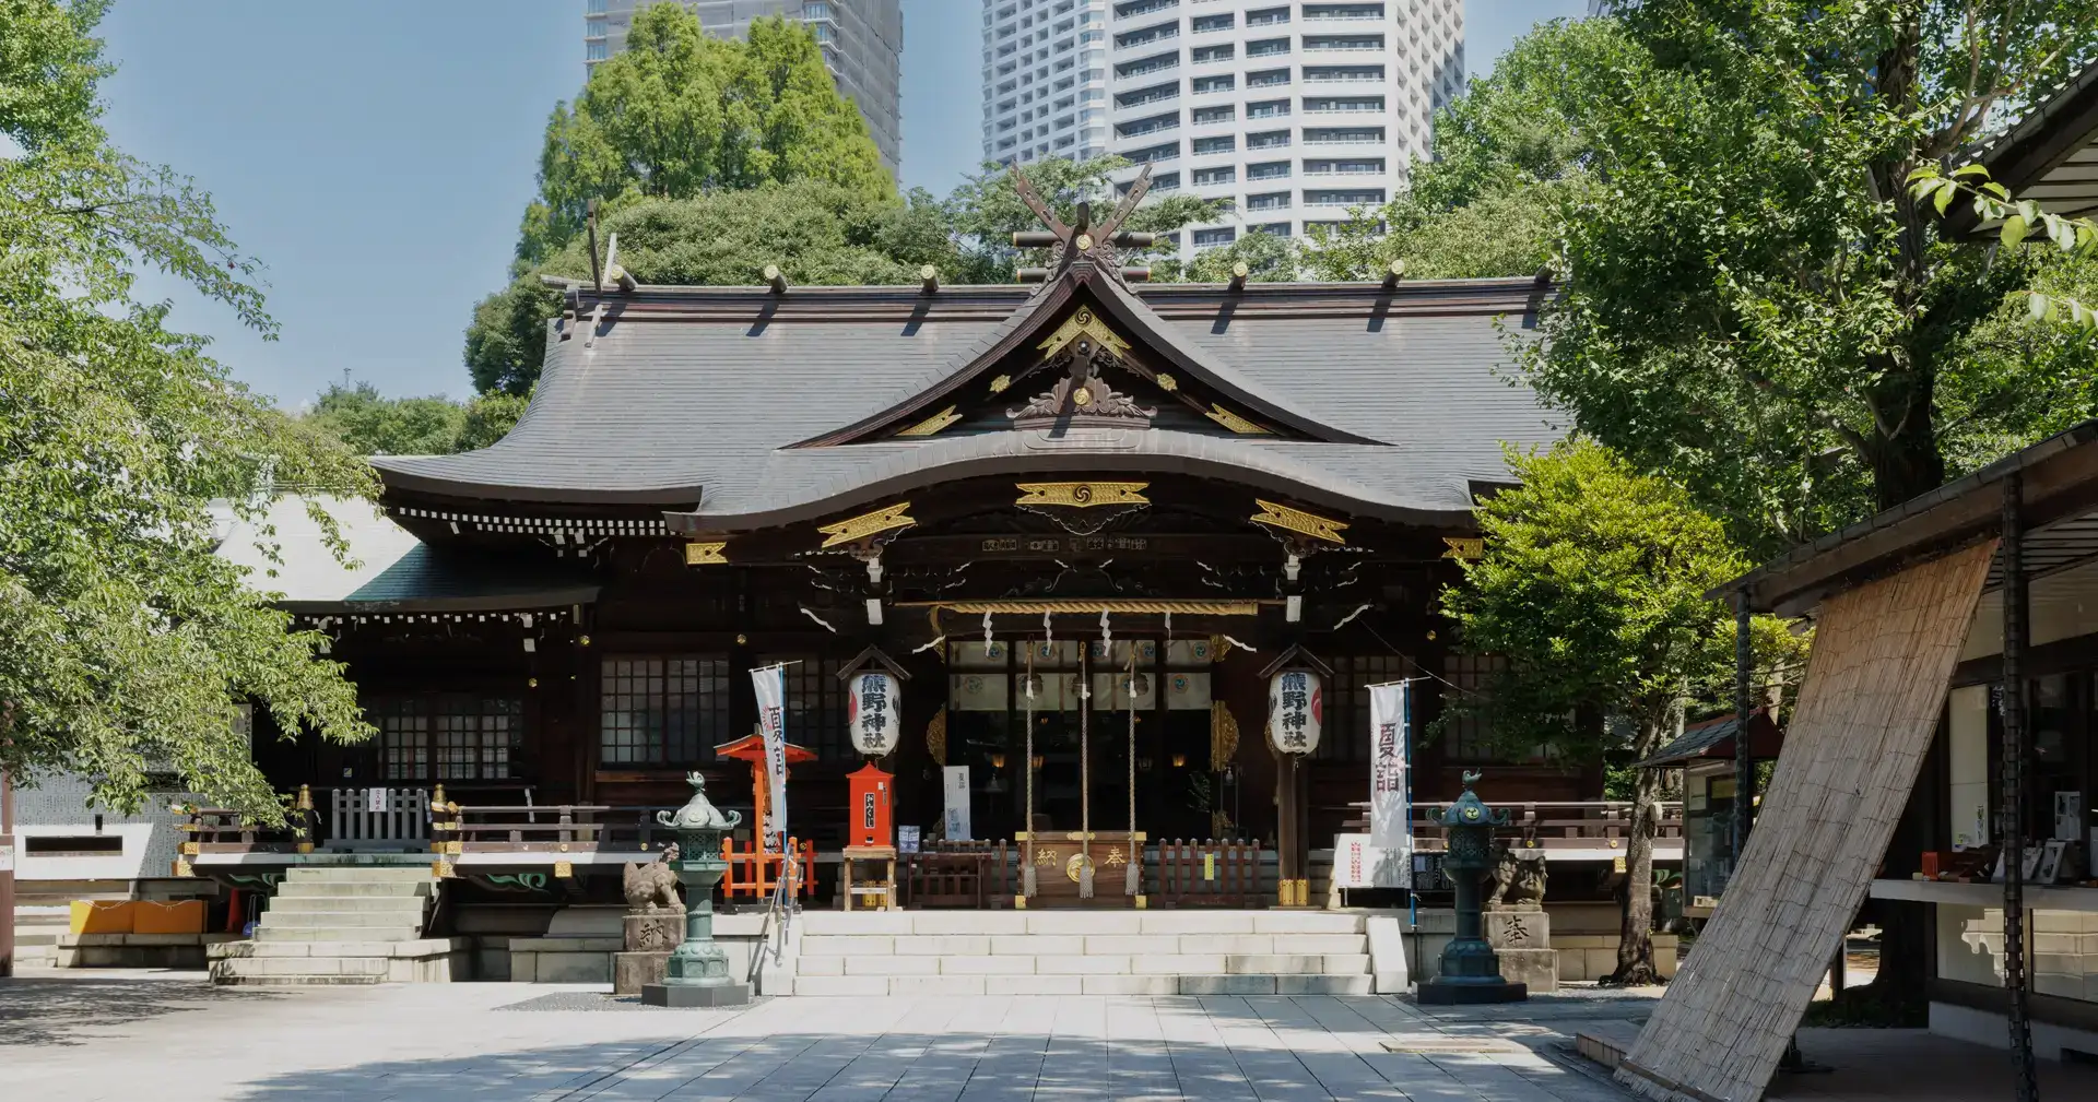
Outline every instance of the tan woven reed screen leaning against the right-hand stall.
<path id="1" fill-rule="evenodd" d="M 1821 603 L 1800 706 L 1748 853 L 1618 1079 L 1762 1098 L 1915 788 L 1995 543 Z"/>

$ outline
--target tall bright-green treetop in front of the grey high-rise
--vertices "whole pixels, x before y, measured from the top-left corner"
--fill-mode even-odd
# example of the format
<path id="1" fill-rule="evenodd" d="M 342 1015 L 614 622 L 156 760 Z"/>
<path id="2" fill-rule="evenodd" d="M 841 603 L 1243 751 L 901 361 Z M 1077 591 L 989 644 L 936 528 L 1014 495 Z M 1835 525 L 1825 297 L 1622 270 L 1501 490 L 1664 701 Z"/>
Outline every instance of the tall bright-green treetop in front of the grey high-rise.
<path id="1" fill-rule="evenodd" d="M 793 180 L 866 203 L 896 197 L 866 119 L 837 94 L 808 27 L 768 17 L 743 42 L 720 40 L 684 4 L 652 4 L 575 105 L 554 107 L 518 270 L 575 241 L 592 199 L 617 207 Z"/>

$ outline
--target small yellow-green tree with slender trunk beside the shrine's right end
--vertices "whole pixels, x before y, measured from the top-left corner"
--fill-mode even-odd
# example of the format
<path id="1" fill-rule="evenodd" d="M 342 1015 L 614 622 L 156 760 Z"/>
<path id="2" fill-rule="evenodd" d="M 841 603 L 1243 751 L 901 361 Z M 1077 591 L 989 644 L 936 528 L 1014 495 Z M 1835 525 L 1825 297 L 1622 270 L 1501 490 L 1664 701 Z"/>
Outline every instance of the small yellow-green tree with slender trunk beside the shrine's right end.
<path id="1" fill-rule="evenodd" d="M 1576 763 L 1611 750 L 1645 758 L 1680 731 L 1685 708 L 1733 696 L 1733 614 L 1706 591 L 1748 564 L 1683 486 L 1599 444 L 1511 448 L 1508 467 L 1521 486 L 1477 507 L 1485 553 L 1462 564 L 1462 585 L 1443 597 L 1460 645 L 1504 660 L 1473 708 L 1506 746 L 1544 746 Z M 1628 746 L 1615 727 L 1630 729 Z M 1613 983 L 1657 983 L 1657 792 L 1660 773 L 1641 769 Z"/>

